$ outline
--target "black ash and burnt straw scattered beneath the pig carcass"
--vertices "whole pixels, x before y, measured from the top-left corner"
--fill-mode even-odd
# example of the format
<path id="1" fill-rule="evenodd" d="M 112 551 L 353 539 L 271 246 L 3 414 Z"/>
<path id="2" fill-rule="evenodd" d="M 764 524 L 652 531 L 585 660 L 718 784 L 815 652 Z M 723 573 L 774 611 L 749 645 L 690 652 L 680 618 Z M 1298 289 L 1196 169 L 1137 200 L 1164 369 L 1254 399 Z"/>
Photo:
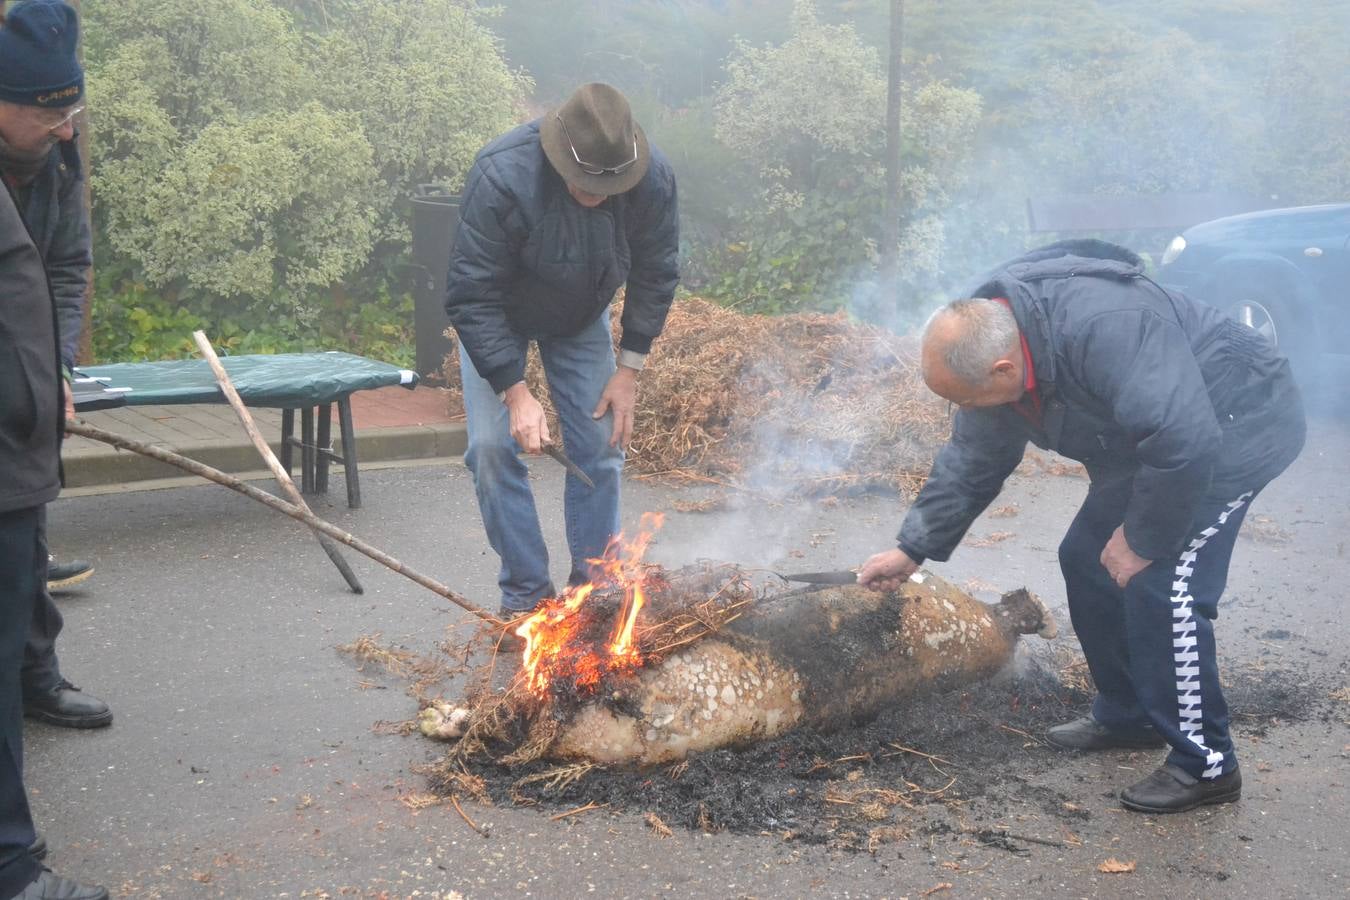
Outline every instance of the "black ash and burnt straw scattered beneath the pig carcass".
<path id="1" fill-rule="evenodd" d="M 1238 673 L 1227 685 L 1235 738 L 1265 735 L 1280 721 L 1330 716 L 1324 688 L 1292 669 Z M 547 761 L 471 769 L 494 803 L 537 804 L 547 815 L 608 804 L 655 814 L 672 828 L 845 850 L 960 833 L 1022 854 L 1029 845 L 1064 846 L 1073 823 L 1091 816 L 1081 801 L 1100 787 L 1058 780 L 1062 752 L 1042 738 L 1050 725 L 1083 715 L 1089 700 L 1049 660 L 1023 660 L 1015 675 L 921 698 L 833 734 L 799 730 L 660 769 L 601 768 L 562 789 L 520 784 L 548 770 Z M 1142 777 L 1161 758 L 1161 750 L 1148 752 L 1131 765 Z"/>

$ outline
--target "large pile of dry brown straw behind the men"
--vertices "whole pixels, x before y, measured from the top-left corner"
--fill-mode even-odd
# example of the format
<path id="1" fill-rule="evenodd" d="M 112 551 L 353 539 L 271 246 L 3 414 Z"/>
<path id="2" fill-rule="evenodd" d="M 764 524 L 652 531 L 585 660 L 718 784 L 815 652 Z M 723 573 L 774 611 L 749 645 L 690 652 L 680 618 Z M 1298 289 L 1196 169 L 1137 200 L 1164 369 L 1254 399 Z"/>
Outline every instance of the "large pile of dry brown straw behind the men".
<path id="1" fill-rule="evenodd" d="M 616 304 L 616 343 L 621 312 Z M 917 352 L 913 339 L 842 313 L 747 316 L 676 301 L 639 382 L 628 468 L 774 494 L 913 491 L 949 428 Z M 446 376 L 458 387 L 458 349 Z M 526 382 L 547 406 L 533 349 Z M 462 412 L 458 391 L 451 403 Z"/>

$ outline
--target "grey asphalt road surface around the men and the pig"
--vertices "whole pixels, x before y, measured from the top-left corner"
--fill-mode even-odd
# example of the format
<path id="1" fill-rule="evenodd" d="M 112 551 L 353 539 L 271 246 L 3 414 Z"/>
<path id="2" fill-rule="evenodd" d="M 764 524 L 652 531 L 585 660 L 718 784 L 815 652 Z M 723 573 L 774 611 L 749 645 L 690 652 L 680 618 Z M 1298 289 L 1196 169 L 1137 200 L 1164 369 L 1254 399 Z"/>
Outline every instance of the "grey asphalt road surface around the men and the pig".
<path id="1" fill-rule="evenodd" d="M 1254 509 L 1266 518 L 1260 540 L 1239 542 L 1219 625 L 1230 673 L 1350 684 L 1347 457 L 1350 428 L 1319 422 L 1303 459 Z M 535 474 L 562 548 L 560 475 L 548 460 Z M 934 571 L 957 583 L 1027 584 L 1066 625 L 1054 548 L 1083 490 L 1077 478 L 1015 478 L 1000 503 L 1017 503 L 1019 515 L 972 530 L 1014 537 L 963 548 Z M 495 563 L 459 464 L 371 470 L 363 493 L 364 509 L 347 510 L 338 475 L 339 505 L 316 511 L 493 602 Z M 630 483 L 626 518 L 679 497 Z M 888 498 L 674 513 L 653 555 L 840 567 L 886 546 L 899 513 Z M 211 486 L 63 499 L 51 521 L 65 555 L 99 567 L 61 600 L 63 668 L 108 699 L 116 721 L 96 733 L 31 725 L 28 785 L 50 864 L 123 896 L 1336 897 L 1350 888 L 1350 703 L 1330 700 L 1327 718 L 1239 730 L 1247 789 L 1237 806 L 1126 814 L 1114 792 L 1152 768 L 1150 756 L 1065 757 L 1062 772 L 1041 777 L 1081 793 L 1081 845 L 1030 854 L 954 837 L 876 854 L 756 835 L 676 831 L 662 841 L 636 810 L 552 822 L 529 808 L 468 807 L 490 826 L 483 838 L 452 808 L 401 801 L 423 789 L 413 766 L 437 748 L 374 733 L 378 721 L 408 718 L 413 702 L 335 650 L 378 631 L 431 652 L 464 619 L 458 610 L 360 557 L 367 592 L 346 592 L 293 522 Z M 1103 874 L 1108 857 L 1137 870 Z"/>

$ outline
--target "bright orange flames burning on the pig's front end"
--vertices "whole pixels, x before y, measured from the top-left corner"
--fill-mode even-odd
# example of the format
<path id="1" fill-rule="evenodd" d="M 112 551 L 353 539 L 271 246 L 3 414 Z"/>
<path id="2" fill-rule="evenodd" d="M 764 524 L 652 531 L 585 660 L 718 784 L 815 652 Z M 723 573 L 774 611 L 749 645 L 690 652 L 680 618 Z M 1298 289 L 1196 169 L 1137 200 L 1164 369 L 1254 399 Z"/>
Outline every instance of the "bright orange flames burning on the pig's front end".
<path id="1" fill-rule="evenodd" d="M 647 603 L 643 555 L 664 519 L 660 513 L 643 513 L 637 537 L 626 541 L 617 534 L 603 556 L 587 560 L 593 567 L 590 582 L 544 600 L 533 615 L 520 623 L 516 634 L 525 640 L 522 675 L 531 691 L 544 695 L 549 684 L 559 679 L 570 680 L 578 691 L 594 690 L 606 672 L 634 669 L 643 664 L 633 640 L 637 614 Z M 597 588 L 613 588 L 624 595 L 614 627 L 603 645 L 583 638 L 583 617 L 576 615 Z"/>

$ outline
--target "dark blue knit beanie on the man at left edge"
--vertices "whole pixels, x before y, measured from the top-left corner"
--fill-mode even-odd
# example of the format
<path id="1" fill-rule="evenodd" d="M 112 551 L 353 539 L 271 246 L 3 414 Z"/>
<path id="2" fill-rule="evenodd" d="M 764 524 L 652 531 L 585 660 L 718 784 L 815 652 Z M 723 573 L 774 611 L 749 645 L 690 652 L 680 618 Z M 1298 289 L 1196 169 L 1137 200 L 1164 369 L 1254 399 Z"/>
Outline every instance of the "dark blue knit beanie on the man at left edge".
<path id="1" fill-rule="evenodd" d="M 80 16 L 62 0 L 27 0 L 0 27 L 0 100 L 69 107 L 84 96 Z"/>

